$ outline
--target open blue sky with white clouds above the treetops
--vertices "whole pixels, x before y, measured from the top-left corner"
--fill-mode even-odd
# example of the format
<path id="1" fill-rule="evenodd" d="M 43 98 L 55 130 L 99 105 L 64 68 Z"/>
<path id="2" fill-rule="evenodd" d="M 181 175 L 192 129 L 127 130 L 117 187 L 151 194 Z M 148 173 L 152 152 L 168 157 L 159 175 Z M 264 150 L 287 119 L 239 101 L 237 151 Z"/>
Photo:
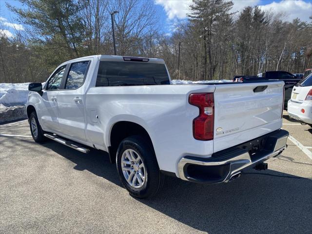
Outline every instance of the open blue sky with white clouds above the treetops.
<path id="1" fill-rule="evenodd" d="M 164 33 L 170 34 L 175 29 L 177 20 L 185 20 L 189 13 L 189 5 L 192 0 L 151 0 L 154 2 L 159 22 Z M 14 35 L 14 28 L 23 30 L 23 26 L 16 21 L 16 16 L 10 12 L 5 3 L 20 7 L 21 3 L 17 0 L 0 0 L 0 33 L 7 36 Z M 312 15 L 312 0 L 233 0 L 233 11 L 240 11 L 245 6 L 259 5 L 266 11 L 284 13 L 284 20 L 292 21 L 295 18 L 309 20 Z M 4 29 L 4 30 L 3 30 Z"/>

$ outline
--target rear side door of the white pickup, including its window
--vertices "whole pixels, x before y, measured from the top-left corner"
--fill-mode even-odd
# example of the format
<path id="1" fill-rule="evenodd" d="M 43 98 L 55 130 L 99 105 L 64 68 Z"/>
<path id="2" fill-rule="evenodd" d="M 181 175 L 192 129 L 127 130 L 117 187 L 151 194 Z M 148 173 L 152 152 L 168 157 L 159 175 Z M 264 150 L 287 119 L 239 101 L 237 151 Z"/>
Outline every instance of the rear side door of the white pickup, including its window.
<path id="1" fill-rule="evenodd" d="M 86 141 L 84 118 L 84 81 L 91 59 L 69 64 L 67 77 L 58 96 L 59 128 L 63 135 Z"/>

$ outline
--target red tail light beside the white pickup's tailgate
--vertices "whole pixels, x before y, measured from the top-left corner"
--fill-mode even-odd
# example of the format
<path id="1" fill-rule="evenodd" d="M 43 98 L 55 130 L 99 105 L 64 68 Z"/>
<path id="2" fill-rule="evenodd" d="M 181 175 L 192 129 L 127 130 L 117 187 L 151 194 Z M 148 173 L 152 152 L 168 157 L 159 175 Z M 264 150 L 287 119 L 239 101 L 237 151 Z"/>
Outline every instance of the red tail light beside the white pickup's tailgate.
<path id="1" fill-rule="evenodd" d="M 191 94 L 189 103 L 199 108 L 193 120 L 193 136 L 197 140 L 214 139 L 215 100 L 213 93 Z"/>

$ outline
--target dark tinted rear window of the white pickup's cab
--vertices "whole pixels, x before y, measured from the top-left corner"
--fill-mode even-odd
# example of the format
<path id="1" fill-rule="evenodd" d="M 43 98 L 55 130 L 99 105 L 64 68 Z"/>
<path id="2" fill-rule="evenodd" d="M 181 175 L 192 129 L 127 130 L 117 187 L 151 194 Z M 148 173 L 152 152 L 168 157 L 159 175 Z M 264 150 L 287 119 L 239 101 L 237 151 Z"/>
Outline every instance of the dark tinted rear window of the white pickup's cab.
<path id="1" fill-rule="evenodd" d="M 100 61 L 96 87 L 170 84 L 165 64 Z"/>

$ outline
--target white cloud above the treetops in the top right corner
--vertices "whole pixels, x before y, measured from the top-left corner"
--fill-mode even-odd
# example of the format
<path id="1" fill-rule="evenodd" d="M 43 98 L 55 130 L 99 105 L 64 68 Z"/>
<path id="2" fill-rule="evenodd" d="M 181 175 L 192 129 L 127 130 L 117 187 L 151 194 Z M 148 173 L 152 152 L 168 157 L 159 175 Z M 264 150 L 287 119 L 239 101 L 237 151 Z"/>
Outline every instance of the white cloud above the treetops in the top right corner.
<path id="1" fill-rule="evenodd" d="M 273 1 L 267 5 L 261 5 L 261 9 L 265 11 L 272 10 L 275 13 L 285 13 L 285 20 L 292 21 L 295 18 L 309 21 L 312 15 L 312 2 L 303 0 L 282 0 L 280 2 Z"/>

